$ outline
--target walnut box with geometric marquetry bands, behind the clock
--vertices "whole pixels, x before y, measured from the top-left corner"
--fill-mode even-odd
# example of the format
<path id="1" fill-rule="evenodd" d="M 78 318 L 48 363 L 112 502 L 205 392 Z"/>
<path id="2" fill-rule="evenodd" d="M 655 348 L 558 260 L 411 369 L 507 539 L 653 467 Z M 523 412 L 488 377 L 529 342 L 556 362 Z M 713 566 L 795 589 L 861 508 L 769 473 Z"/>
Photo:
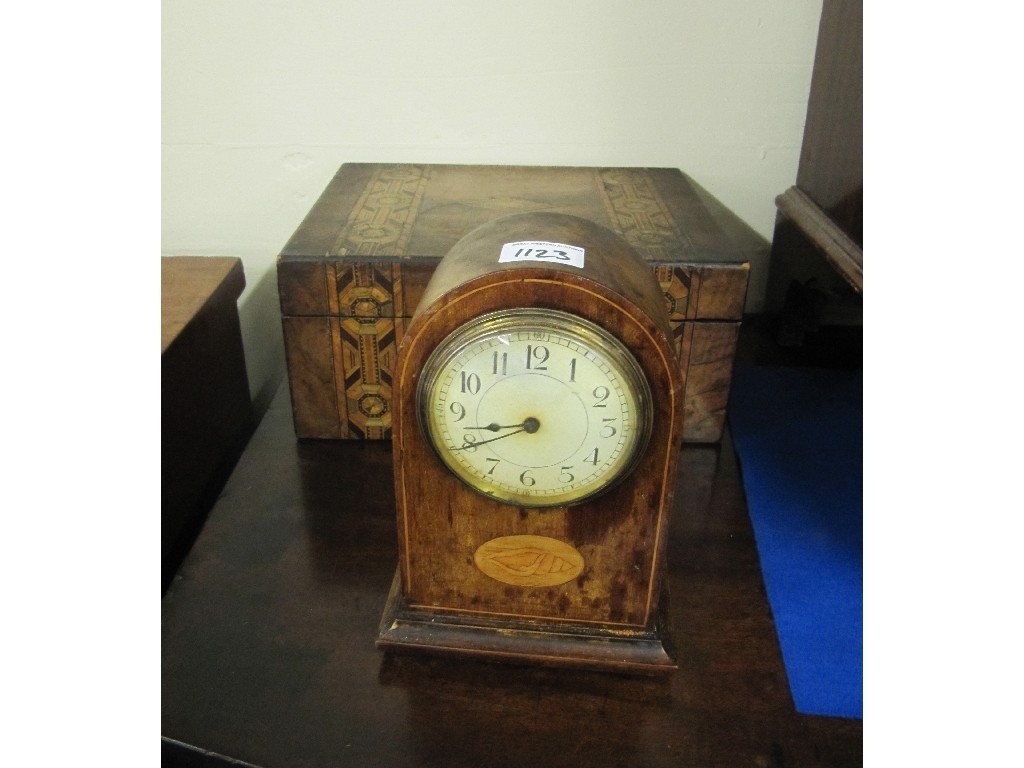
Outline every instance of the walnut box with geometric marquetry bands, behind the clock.
<path id="1" fill-rule="evenodd" d="M 590 219 L 646 259 L 686 380 L 684 438 L 717 441 L 750 257 L 767 244 L 671 168 L 341 166 L 278 258 L 296 435 L 390 439 L 395 350 L 434 266 L 529 211 Z"/>

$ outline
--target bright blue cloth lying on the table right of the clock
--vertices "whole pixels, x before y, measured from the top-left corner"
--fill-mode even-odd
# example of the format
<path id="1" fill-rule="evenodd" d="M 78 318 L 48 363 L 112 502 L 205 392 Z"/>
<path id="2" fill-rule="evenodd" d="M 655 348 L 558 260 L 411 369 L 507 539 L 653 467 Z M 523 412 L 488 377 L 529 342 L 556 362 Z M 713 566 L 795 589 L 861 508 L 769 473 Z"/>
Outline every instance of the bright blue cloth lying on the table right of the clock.
<path id="1" fill-rule="evenodd" d="M 729 425 L 797 711 L 863 716 L 863 379 L 737 367 Z"/>

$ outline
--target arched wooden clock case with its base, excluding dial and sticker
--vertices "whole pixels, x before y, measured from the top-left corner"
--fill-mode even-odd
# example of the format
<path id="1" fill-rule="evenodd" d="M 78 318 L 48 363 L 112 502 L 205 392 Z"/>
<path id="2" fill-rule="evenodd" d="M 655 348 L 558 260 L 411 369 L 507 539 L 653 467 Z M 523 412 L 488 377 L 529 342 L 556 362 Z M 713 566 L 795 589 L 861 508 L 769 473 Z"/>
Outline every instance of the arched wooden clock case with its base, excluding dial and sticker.
<path id="1" fill-rule="evenodd" d="M 584 266 L 547 254 L 500 262 L 503 248 L 513 243 L 582 249 Z M 524 310 L 557 312 L 581 318 L 582 328 L 596 327 L 628 350 L 649 390 L 643 393 L 649 397 L 646 422 L 635 425 L 646 430 L 637 455 L 611 472 L 617 475 L 607 487 L 579 503 L 550 506 L 529 497 L 510 502 L 488 496 L 472 486 L 482 484 L 479 478 L 467 482 L 453 472 L 439 456 L 440 438 L 431 436 L 426 424 L 424 409 L 431 403 L 424 401 L 421 377 L 432 375 L 431 354 L 480 317 L 510 310 L 515 317 L 516 312 L 529 316 Z M 394 367 L 399 564 L 378 646 L 629 672 L 675 669 L 667 649 L 662 583 L 683 423 L 682 374 L 671 340 L 650 268 L 625 241 L 588 220 L 545 213 L 506 216 L 453 247 L 426 288 Z M 534 354 L 534 347 L 526 353 Z M 515 359 L 522 354 L 520 344 Z M 458 355 L 449 355 L 458 367 Z M 497 354 L 494 360 L 498 375 Z M 536 358 L 525 365 L 530 364 Z M 600 386 L 588 389 L 603 394 Z M 593 397 L 585 401 L 596 404 Z M 459 409 L 465 410 L 447 408 L 453 422 Z M 594 426 L 583 429 L 588 439 L 596 435 Z M 450 435 L 455 443 L 449 447 L 457 452 L 463 447 L 459 440 L 507 432 L 478 434 Z M 534 479 L 532 470 L 513 476 L 523 484 Z"/>

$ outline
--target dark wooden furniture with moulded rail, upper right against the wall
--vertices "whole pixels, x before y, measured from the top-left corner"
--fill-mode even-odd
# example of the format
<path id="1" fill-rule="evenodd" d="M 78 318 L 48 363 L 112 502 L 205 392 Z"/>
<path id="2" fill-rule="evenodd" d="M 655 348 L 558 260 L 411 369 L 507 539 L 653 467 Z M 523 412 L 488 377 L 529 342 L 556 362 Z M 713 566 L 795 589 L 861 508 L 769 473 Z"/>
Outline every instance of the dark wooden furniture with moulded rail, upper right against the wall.
<path id="1" fill-rule="evenodd" d="M 850 329 L 862 324 L 862 49 L 861 0 L 825 0 L 797 184 L 776 199 L 766 308 L 780 317 L 785 346 L 810 346 L 810 336 L 850 346 Z M 846 365 L 859 365 L 859 347 L 858 339 L 844 353 Z"/>

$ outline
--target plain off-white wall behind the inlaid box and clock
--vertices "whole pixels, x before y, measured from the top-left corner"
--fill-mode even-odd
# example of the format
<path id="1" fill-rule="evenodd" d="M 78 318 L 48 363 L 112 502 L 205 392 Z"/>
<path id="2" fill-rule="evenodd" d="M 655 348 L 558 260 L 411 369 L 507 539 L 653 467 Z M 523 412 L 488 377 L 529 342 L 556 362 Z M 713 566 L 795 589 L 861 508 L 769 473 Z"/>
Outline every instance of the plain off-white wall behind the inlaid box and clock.
<path id="1" fill-rule="evenodd" d="M 821 0 L 164 0 L 164 255 L 244 260 L 257 406 L 274 258 L 344 162 L 681 168 L 766 238 Z M 752 265 L 748 309 L 763 303 Z"/>

